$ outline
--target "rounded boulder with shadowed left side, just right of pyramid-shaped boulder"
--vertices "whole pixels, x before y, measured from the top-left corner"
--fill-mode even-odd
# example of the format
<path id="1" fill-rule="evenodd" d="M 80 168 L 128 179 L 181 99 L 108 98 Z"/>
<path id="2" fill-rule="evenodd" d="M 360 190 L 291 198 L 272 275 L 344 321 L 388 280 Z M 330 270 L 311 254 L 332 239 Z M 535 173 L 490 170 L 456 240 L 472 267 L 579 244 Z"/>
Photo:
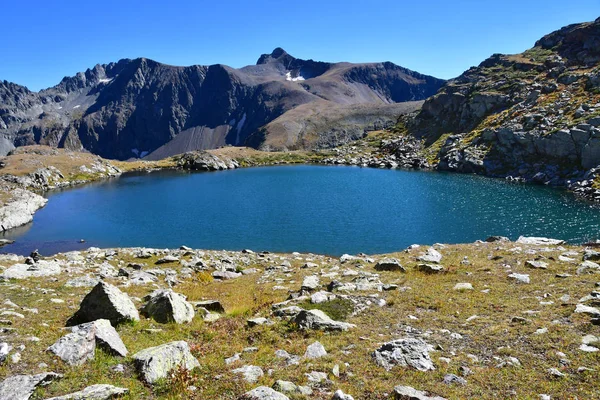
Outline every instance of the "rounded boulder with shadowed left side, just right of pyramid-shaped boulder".
<path id="1" fill-rule="evenodd" d="M 156 290 L 145 300 L 147 303 L 142 308 L 142 314 L 162 324 L 184 324 L 194 319 L 194 307 L 186 301 L 185 296 L 172 290 Z"/>

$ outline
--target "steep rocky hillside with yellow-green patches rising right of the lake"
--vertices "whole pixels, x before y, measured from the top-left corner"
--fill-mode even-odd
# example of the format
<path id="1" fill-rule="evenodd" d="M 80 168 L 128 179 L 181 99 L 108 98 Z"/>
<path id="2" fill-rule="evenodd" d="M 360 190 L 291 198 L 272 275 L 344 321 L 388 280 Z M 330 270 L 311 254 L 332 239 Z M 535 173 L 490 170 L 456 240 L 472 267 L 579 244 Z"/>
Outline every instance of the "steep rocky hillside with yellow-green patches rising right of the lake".
<path id="1" fill-rule="evenodd" d="M 401 129 L 424 140 L 438 169 L 564 186 L 595 176 L 599 117 L 600 19 L 521 54 L 494 54 L 447 82 Z"/>

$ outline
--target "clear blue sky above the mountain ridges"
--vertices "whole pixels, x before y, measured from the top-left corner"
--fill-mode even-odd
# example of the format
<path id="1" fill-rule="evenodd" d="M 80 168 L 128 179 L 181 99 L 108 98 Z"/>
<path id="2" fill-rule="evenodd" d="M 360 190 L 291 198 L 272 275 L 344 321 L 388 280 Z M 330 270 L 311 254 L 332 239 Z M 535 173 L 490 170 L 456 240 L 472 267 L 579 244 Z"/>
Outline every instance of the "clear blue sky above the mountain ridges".
<path id="1" fill-rule="evenodd" d="M 0 79 L 39 90 L 121 58 L 241 67 L 275 47 L 452 78 L 596 19 L 600 0 L 5 0 L 1 9 Z"/>

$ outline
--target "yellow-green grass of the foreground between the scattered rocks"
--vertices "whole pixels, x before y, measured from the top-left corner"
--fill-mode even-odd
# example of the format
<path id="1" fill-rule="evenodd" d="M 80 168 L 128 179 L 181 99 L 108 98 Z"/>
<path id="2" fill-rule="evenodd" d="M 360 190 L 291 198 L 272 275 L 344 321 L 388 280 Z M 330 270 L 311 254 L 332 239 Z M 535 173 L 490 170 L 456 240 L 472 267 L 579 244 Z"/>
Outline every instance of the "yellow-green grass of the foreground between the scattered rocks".
<path id="1" fill-rule="evenodd" d="M 174 374 L 171 380 L 163 382 L 154 390 L 140 383 L 128 359 L 119 359 L 97 351 L 93 362 L 81 367 L 69 367 L 44 352 L 44 349 L 64 334 L 61 327 L 89 289 L 65 288 L 63 285 L 68 279 L 67 274 L 58 276 L 56 280 L 9 282 L 0 286 L 0 300 L 10 299 L 20 306 L 36 307 L 39 313 L 20 311 L 26 314 L 26 319 L 12 318 L 14 324 L 11 327 L 18 330 L 19 339 L 11 341 L 23 342 L 27 349 L 22 352 L 23 359 L 19 364 L 8 363 L 1 366 L 0 376 L 40 372 L 45 370 L 38 367 L 40 362 L 48 364 L 49 370 L 65 374 L 62 381 L 39 389 L 36 395 L 38 399 L 79 390 L 95 383 L 128 387 L 131 392 L 127 398 L 131 399 L 234 399 L 257 386 L 240 381 L 229 372 L 243 364 L 261 366 L 265 372 L 272 368 L 273 375 L 265 375 L 259 381 L 259 384 L 269 386 L 276 379 L 305 384 L 304 373 L 324 371 L 333 381 L 332 390 L 341 388 L 356 399 L 387 398 L 386 394 L 397 384 L 429 390 L 450 399 L 534 399 L 539 393 L 549 393 L 553 398 L 561 399 L 599 398 L 597 371 L 580 374 L 577 373 L 577 368 L 585 366 L 597 369 L 599 353 L 584 353 L 578 347 L 584 334 L 598 335 L 600 328 L 590 325 L 589 317 L 572 314 L 577 299 L 594 289 L 598 275 L 575 275 L 575 263 L 556 261 L 564 252 L 557 248 L 549 252 L 538 252 L 550 265 L 547 271 L 528 269 L 524 262 L 535 256 L 526 255 L 524 251 L 514 252 L 512 249 L 515 247 L 523 250 L 529 248 L 514 243 L 447 246 L 440 251 L 444 255 L 443 264 L 448 272 L 440 275 L 426 275 L 413 268 L 419 249 L 393 254 L 408 267 L 408 272 L 380 272 L 381 280 L 411 289 L 371 293 L 384 298 L 387 305 L 381 308 L 371 306 L 366 312 L 349 317 L 348 321 L 355 323 L 357 328 L 345 333 L 299 332 L 283 321 L 273 326 L 247 328 L 245 320 L 254 315 L 269 316 L 270 305 L 287 298 L 287 291 L 273 290 L 275 285 L 298 290 L 302 277 L 315 273 L 315 269 L 298 268 L 304 263 L 304 258 L 316 258 L 323 265 L 316 270 L 323 272 L 363 269 L 358 264 L 364 265 L 364 270 L 373 272 L 372 264 L 351 262 L 338 269 L 339 262 L 334 259 L 286 255 L 285 258 L 293 264 L 293 271 L 289 274 L 275 273 L 266 283 L 258 282 L 262 274 L 226 282 L 213 282 L 206 273 L 196 274 L 192 280 L 176 286 L 175 290 L 187 295 L 190 300 L 218 299 L 228 311 L 227 316 L 212 324 L 204 323 L 198 318 L 190 325 L 161 325 L 142 319 L 139 323 L 119 327 L 119 333 L 131 354 L 164 342 L 186 340 L 200 360 L 202 367 L 198 371 L 193 374 Z M 581 253 L 581 248 L 577 247 L 568 250 Z M 469 265 L 461 264 L 465 256 L 468 256 Z M 130 260 L 127 257 L 117 257 L 110 263 L 118 266 L 121 261 L 127 263 Z M 143 261 L 151 265 L 153 260 Z M 277 265 L 277 259 L 250 266 L 262 271 L 270 265 Z M 530 274 L 532 283 L 517 285 L 508 280 L 506 265 L 512 266 L 513 271 Z M 175 263 L 162 267 L 176 270 L 180 268 Z M 568 279 L 555 277 L 556 273 L 563 272 L 572 273 L 573 276 Z M 280 280 L 275 282 L 275 278 Z M 321 282 L 326 284 L 329 279 L 321 278 Z M 458 282 L 471 282 L 475 290 L 452 290 Z M 115 283 L 119 283 L 119 280 L 115 280 Z M 489 289 L 489 293 L 483 293 L 484 289 Z M 153 287 L 130 286 L 122 290 L 131 296 L 142 297 L 152 291 Z M 360 293 L 365 294 L 369 293 Z M 568 304 L 562 304 L 559 300 L 565 294 L 572 299 Z M 51 298 L 60 298 L 65 303 L 52 303 L 49 301 Z M 544 305 L 544 301 L 552 303 Z M 525 314 L 528 310 L 535 311 L 535 314 Z M 412 319 L 411 315 L 418 319 Z M 467 318 L 473 315 L 478 318 L 467 322 Z M 512 323 L 514 316 L 525 317 L 529 322 Z M 386 372 L 372 363 L 370 353 L 381 342 L 404 337 L 404 327 L 407 325 L 421 331 L 430 331 L 426 340 L 443 348 L 432 353 L 436 371 L 424 373 L 395 368 Z M 548 333 L 534 334 L 536 329 L 544 327 L 548 328 Z M 160 328 L 162 331 L 148 333 L 145 331 L 147 328 Z M 459 333 L 462 339 L 452 339 L 450 332 Z M 30 335 L 39 337 L 40 342 L 27 341 L 25 338 Z M 277 349 L 302 355 L 306 347 L 315 340 L 323 343 L 329 352 L 327 357 L 313 361 L 303 360 L 299 366 L 285 367 L 274 355 Z M 243 362 L 225 365 L 226 357 L 241 352 L 248 346 L 258 347 L 258 351 L 244 353 Z M 560 367 L 559 359 L 562 357 L 557 352 L 566 354 L 565 357 L 570 360 L 567 366 Z M 473 362 L 469 354 L 477 356 L 479 362 Z M 497 368 L 500 361 L 494 357 L 504 359 L 507 356 L 517 357 L 523 367 Z M 450 364 L 441 361 L 440 357 L 450 358 Z M 125 374 L 111 371 L 110 367 L 119 363 L 126 365 Z M 339 378 L 331 374 L 335 364 L 341 367 Z M 467 378 L 468 384 L 444 385 L 441 382 L 444 374 L 457 373 L 461 365 L 469 366 L 474 372 Z M 554 367 L 561 369 L 567 377 L 549 378 L 547 370 Z M 197 392 L 185 390 L 192 384 L 199 388 Z M 310 398 L 329 399 L 330 396 L 315 394 Z"/>

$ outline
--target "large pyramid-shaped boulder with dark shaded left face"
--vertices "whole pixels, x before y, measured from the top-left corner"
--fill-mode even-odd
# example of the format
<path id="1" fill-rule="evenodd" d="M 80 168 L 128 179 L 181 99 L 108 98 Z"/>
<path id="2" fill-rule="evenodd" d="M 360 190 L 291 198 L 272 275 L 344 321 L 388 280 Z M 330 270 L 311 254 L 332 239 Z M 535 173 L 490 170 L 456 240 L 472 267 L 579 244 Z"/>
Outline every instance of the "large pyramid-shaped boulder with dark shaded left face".
<path id="1" fill-rule="evenodd" d="M 100 282 L 81 302 L 79 310 L 67 321 L 67 326 L 107 319 L 113 325 L 126 321 L 139 321 L 133 301 L 129 296 L 106 282 Z"/>

